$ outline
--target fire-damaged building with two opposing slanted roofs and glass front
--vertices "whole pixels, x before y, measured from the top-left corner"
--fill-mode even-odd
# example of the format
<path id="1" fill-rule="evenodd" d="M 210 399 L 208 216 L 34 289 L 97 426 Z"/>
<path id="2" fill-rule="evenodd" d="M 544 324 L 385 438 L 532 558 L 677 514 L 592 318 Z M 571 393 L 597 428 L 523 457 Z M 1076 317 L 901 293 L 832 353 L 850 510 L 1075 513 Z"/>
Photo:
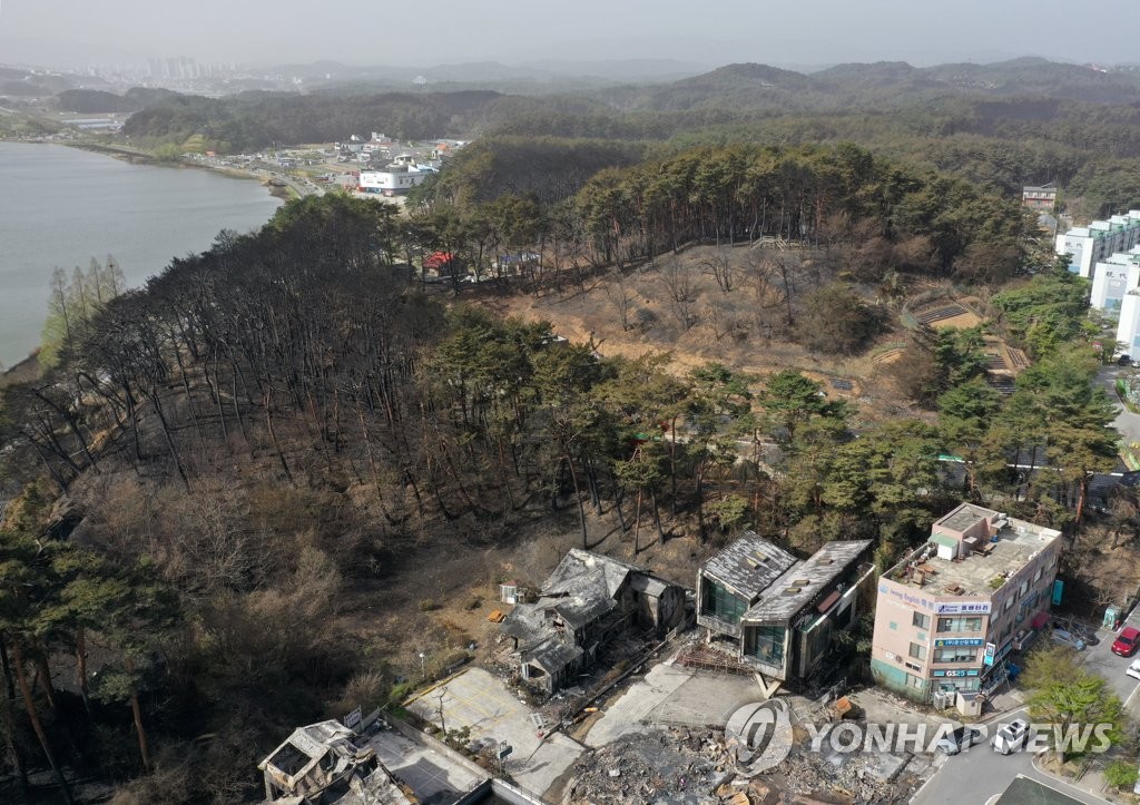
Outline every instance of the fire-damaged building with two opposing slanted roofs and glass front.
<path id="1" fill-rule="evenodd" d="M 836 629 L 858 617 L 858 588 L 873 576 L 871 540 L 831 542 L 807 560 L 748 532 L 709 559 L 697 576 L 697 623 L 764 675 L 812 674 Z"/>

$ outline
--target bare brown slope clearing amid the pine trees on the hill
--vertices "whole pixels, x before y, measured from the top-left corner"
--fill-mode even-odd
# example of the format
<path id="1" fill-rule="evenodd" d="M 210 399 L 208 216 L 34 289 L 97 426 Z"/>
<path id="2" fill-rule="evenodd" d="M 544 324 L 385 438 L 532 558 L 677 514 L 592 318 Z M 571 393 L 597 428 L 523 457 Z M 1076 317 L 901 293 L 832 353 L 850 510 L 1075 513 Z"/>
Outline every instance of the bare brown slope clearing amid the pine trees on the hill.
<path id="1" fill-rule="evenodd" d="M 739 269 L 736 284 L 727 292 L 705 269 L 714 258 L 725 254 Z M 787 254 L 781 252 L 773 259 Z M 547 320 L 571 341 L 593 341 L 605 356 L 636 358 L 668 352 L 670 371 L 677 374 L 710 361 L 720 363 L 756 375 L 754 390 L 759 391 L 765 376 L 791 368 L 821 383 L 831 399 L 858 401 L 864 420 L 913 413 L 899 406 L 903 398 L 889 371 L 890 363 L 902 353 L 903 331 L 885 333 L 860 356 L 811 352 L 792 340 L 787 308 L 773 298 L 775 280 L 768 277 L 768 285 L 760 286 L 755 275 L 749 275 L 749 266 L 763 259 L 765 250 L 697 246 L 661 258 L 656 267 L 628 269 L 620 278 L 612 271 L 597 276 L 585 290 L 537 298 L 516 293 L 481 299 L 480 303 L 504 316 Z M 813 255 L 805 253 L 796 259 L 796 294 L 830 280 Z M 665 268 L 668 261 L 677 261 L 689 271 L 692 301 L 687 311 L 678 310 L 685 306 L 673 299 L 670 275 Z M 870 298 L 869 303 L 873 303 Z M 690 326 L 683 324 L 683 314 L 690 317 Z M 888 314 L 888 318 L 894 315 Z"/>

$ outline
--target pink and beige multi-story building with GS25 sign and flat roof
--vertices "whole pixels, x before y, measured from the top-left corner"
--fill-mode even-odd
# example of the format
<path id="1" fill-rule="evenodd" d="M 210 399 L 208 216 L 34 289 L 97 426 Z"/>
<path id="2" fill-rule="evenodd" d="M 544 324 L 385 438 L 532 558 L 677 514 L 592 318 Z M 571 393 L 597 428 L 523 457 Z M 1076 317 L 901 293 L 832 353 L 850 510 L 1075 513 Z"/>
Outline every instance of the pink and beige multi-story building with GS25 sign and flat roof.
<path id="1" fill-rule="evenodd" d="M 879 578 L 871 674 L 919 701 L 986 690 L 1049 623 L 1060 553 L 1060 531 L 958 506 Z"/>

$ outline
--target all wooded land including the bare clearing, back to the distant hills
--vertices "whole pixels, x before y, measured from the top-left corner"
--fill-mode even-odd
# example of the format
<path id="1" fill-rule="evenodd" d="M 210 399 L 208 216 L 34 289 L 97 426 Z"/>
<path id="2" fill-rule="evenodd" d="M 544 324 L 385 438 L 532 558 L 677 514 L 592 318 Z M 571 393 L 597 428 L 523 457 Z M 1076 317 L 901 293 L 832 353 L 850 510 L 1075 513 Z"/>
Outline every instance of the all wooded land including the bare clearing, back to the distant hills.
<path id="1" fill-rule="evenodd" d="M 132 138 L 234 151 L 488 133 L 406 214 L 308 197 L 142 288 L 112 261 L 56 275 L 42 371 L 0 389 L 0 800 L 255 800 L 298 724 L 467 657 L 441 596 L 568 540 L 691 583 L 744 528 L 804 553 L 865 537 L 886 567 L 962 498 L 1065 528 L 1075 563 L 1090 519 L 1134 537 L 1132 490 L 1089 505 L 1117 445 L 1088 283 L 1013 192 L 1140 205 L 1135 108 L 905 65 L 861 96 L 857 72 L 136 113 Z M 490 282 L 430 284 L 434 252 Z M 972 294 L 986 331 L 922 325 L 919 288 Z M 532 302 L 585 311 L 578 336 L 499 312 Z M 1032 361 L 1000 390 L 987 339 Z M 845 361 L 881 388 L 806 368 Z"/>

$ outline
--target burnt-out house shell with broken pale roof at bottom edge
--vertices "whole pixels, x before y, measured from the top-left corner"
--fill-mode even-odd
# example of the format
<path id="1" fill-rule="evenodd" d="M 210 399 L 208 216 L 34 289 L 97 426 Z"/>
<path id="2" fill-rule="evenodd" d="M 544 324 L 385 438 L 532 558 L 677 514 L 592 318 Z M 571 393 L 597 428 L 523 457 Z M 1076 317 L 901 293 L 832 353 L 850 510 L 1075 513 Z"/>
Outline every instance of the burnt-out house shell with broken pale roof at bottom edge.
<path id="1" fill-rule="evenodd" d="M 370 748 L 359 748 L 356 733 L 325 721 L 293 731 L 258 764 L 266 780 L 266 802 L 277 805 L 408 805 L 397 782 Z"/>

